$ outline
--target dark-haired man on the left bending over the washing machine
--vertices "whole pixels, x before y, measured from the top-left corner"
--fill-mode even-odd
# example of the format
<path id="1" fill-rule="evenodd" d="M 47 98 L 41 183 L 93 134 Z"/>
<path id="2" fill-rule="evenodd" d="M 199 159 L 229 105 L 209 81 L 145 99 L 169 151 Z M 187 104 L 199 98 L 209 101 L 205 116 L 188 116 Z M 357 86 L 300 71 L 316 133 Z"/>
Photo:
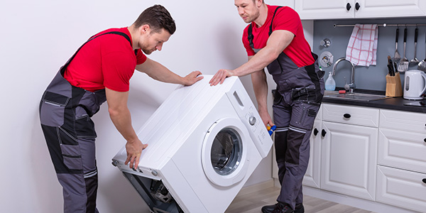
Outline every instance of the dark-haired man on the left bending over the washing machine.
<path id="1" fill-rule="evenodd" d="M 63 188 L 64 212 L 98 212 L 96 132 L 90 119 L 107 101 L 109 116 L 126 139 L 130 168 L 136 169 L 141 143 L 127 107 L 129 80 L 136 70 L 161 82 L 191 85 L 201 72 L 180 77 L 146 57 L 161 50 L 175 32 L 175 21 L 160 5 L 151 6 L 127 28 L 92 36 L 63 65 L 40 102 L 40 123 Z M 143 53 L 146 55 L 144 55 Z"/>

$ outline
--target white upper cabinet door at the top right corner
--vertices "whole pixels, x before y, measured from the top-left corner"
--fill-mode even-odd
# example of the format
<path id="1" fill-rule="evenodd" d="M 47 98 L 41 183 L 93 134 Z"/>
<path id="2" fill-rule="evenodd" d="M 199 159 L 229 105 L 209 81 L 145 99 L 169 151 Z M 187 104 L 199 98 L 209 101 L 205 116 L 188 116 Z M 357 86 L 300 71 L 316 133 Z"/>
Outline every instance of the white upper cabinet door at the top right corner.
<path id="1" fill-rule="evenodd" d="M 425 0 L 355 0 L 359 10 L 356 18 L 383 18 L 403 16 L 425 16 Z"/>

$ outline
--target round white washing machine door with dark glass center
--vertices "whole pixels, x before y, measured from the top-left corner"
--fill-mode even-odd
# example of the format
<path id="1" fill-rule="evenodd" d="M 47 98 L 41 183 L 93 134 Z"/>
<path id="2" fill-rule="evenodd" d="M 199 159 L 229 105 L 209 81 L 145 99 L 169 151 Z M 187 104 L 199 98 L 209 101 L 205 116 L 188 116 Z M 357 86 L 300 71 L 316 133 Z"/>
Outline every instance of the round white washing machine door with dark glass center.
<path id="1" fill-rule="evenodd" d="M 251 141 L 240 119 L 219 119 L 209 128 L 202 144 L 202 168 L 215 185 L 240 182 L 249 166 L 247 143 Z"/>

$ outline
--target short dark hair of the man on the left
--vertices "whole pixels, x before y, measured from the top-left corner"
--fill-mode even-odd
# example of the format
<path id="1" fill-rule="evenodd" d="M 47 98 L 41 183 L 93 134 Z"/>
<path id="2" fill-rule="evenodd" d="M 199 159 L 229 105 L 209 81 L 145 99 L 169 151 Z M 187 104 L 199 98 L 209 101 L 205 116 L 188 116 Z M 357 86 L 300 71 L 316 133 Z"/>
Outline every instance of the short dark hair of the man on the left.
<path id="1" fill-rule="evenodd" d="M 133 24 L 135 28 L 148 24 L 155 33 L 160 32 L 162 28 L 168 31 L 170 35 L 173 35 L 176 31 L 175 20 L 170 16 L 167 9 L 159 4 L 144 10 Z"/>

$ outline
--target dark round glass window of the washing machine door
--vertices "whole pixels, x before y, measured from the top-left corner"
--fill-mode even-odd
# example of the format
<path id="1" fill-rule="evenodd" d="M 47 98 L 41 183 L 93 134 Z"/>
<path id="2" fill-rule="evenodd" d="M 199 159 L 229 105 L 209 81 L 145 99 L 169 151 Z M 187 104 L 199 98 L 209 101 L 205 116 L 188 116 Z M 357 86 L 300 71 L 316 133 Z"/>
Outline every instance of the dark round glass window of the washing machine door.
<path id="1" fill-rule="evenodd" d="M 214 137 L 210 157 L 214 171 L 219 175 L 229 175 L 241 163 L 241 136 L 235 129 L 222 129 Z"/>

